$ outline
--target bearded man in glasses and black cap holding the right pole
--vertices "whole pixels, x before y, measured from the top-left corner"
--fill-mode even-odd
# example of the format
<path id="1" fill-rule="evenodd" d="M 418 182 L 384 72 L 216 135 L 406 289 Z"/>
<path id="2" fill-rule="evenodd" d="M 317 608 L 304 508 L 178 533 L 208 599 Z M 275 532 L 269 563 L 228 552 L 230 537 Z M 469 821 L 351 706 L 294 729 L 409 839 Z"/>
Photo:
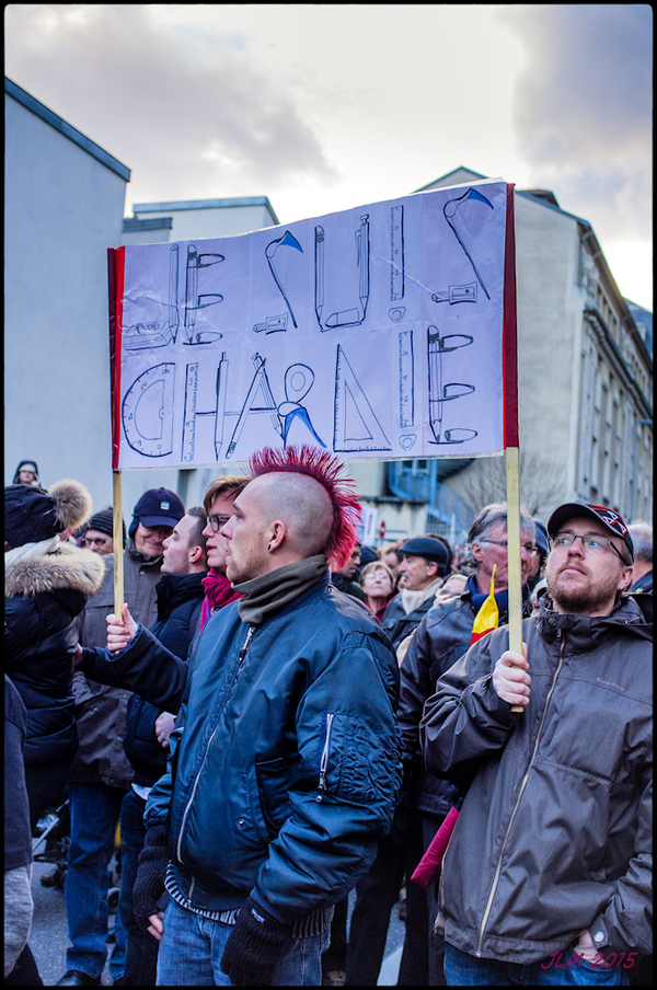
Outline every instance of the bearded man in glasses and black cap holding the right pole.
<path id="1" fill-rule="evenodd" d="M 624 594 L 632 539 L 575 503 L 548 532 L 522 655 L 491 632 L 420 725 L 427 768 L 466 792 L 437 918 L 450 985 L 626 985 L 652 952 L 652 624 Z"/>

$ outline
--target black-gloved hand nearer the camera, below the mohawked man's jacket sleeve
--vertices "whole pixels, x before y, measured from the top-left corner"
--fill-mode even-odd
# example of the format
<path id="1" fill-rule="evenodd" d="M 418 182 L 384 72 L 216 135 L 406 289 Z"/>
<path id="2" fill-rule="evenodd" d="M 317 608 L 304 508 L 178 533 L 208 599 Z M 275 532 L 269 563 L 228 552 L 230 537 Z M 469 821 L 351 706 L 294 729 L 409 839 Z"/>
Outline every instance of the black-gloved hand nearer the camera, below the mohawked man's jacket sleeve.
<path id="1" fill-rule="evenodd" d="M 290 926 L 249 897 L 228 936 L 221 968 L 237 987 L 269 987 L 287 941 Z"/>

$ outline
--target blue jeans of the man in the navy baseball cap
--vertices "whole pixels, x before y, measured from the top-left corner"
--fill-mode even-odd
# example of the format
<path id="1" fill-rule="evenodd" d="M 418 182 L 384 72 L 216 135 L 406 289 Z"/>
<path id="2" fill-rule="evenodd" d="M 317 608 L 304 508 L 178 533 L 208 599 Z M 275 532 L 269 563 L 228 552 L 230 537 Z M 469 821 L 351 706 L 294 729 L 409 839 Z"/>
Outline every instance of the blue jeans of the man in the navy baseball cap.
<path id="1" fill-rule="evenodd" d="M 103 972 L 108 928 L 107 866 L 114 852 L 116 822 L 123 787 L 105 784 L 69 784 L 71 844 L 64 883 L 64 898 L 71 946 L 66 952 L 67 969 L 79 969 L 91 977 Z M 124 975 L 126 933 L 116 913 L 116 944 L 110 960 L 113 979 Z"/>

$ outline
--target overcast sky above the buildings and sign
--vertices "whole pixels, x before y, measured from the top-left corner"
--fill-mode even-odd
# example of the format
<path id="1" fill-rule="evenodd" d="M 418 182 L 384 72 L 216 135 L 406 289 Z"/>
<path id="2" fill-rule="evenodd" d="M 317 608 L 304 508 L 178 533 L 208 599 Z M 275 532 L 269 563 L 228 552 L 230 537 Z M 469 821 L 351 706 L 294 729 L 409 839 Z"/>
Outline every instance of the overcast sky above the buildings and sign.
<path id="1" fill-rule="evenodd" d="M 466 165 L 550 188 L 653 308 L 644 4 L 10 4 L 5 72 L 132 170 L 134 203 L 281 223 Z"/>

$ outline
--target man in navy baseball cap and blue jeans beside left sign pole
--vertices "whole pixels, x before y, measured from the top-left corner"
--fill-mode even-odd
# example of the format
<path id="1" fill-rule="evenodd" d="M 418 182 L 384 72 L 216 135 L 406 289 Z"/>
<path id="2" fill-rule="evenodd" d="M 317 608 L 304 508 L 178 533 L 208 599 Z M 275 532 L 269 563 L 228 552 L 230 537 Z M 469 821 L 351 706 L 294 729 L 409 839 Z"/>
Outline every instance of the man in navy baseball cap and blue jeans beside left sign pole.
<path id="1" fill-rule="evenodd" d="M 123 552 L 124 596 L 137 622 L 150 628 L 157 618 L 155 585 L 161 577 L 163 542 L 185 515 L 175 492 L 150 488 L 137 502 Z M 114 612 L 114 554 L 107 554 L 105 577 L 80 617 L 82 647 L 104 647 L 105 617 Z M 125 753 L 126 713 L 131 692 L 101 684 L 78 670 L 73 680 L 80 748 L 71 771 L 69 802 L 71 844 L 65 884 L 71 945 L 67 971 L 57 986 L 100 985 L 107 955 L 107 866 L 122 801 L 134 769 Z M 116 944 L 110 962 L 114 981 L 123 979 L 125 929 L 119 913 Z"/>

